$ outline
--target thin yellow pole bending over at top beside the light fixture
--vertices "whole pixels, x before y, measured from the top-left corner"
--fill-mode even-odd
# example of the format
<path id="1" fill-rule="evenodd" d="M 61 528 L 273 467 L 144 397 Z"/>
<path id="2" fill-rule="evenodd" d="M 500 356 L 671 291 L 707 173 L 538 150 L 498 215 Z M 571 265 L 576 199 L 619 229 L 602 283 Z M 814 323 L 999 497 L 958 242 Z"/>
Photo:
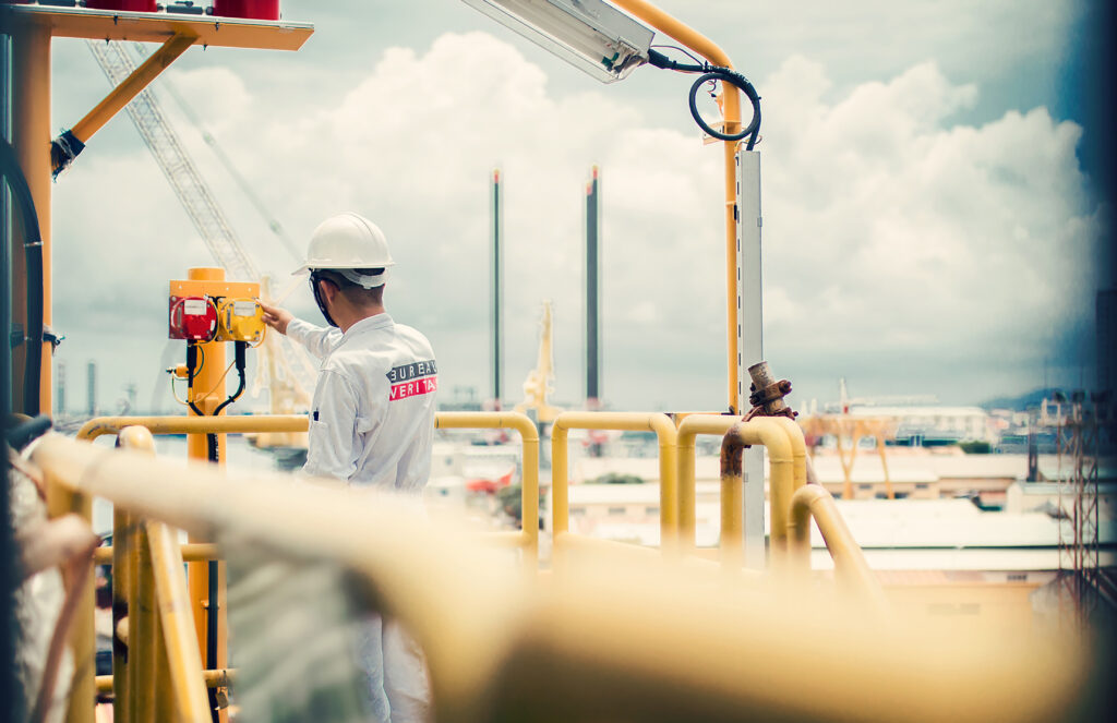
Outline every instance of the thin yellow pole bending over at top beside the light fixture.
<path id="1" fill-rule="evenodd" d="M 698 32 L 685 22 L 663 12 L 647 0 L 614 0 L 615 4 L 630 15 L 643 20 L 649 26 L 669 35 L 681 45 L 701 55 L 716 66 L 732 68 L 729 56 L 713 40 Z M 741 130 L 741 96 L 736 86 L 722 84 L 725 113 L 725 133 L 734 134 Z M 741 412 L 738 408 L 744 397 L 738 382 L 737 363 L 737 178 L 736 178 L 736 141 L 723 141 L 725 162 L 725 284 L 726 284 L 726 333 L 728 341 L 728 396 L 729 409 Z"/>

